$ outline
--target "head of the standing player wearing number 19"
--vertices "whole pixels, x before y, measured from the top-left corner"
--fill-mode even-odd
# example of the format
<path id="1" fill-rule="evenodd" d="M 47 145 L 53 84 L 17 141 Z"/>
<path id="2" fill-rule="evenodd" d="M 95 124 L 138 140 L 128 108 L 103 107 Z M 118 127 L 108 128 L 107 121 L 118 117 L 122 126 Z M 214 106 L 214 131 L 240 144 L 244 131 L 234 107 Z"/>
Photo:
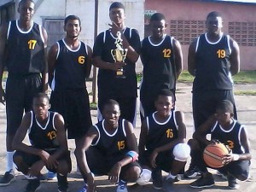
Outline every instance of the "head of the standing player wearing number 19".
<path id="1" fill-rule="evenodd" d="M 207 32 L 210 34 L 219 34 L 223 27 L 222 15 L 217 11 L 212 11 L 207 15 Z"/>

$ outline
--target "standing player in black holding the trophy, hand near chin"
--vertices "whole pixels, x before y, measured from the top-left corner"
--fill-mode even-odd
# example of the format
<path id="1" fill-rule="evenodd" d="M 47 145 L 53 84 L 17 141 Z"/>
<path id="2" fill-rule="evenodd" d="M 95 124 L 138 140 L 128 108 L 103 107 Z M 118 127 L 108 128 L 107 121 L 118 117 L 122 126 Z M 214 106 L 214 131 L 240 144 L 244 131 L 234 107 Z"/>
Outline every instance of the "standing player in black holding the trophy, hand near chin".
<path id="1" fill-rule="evenodd" d="M 109 8 L 112 21 L 110 29 L 101 32 L 93 48 L 93 64 L 99 67 L 98 73 L 98 119 L 102 120 L 103 103 L 108 99 L 119 102 L 121 117 L 135 125 L 137 105 L 137 77 L 135 64 L 139 57 L 141 42 L 137 30 L 125 26 L 125 7 L 122 3 L 112 3 Z M 124 62 L 114 62 L 112 50 L 117 33 L 121 33 L 123 48 L 127 49 Z M 116 78 L 119 68 L 124 68 L 125 79 Z"/>

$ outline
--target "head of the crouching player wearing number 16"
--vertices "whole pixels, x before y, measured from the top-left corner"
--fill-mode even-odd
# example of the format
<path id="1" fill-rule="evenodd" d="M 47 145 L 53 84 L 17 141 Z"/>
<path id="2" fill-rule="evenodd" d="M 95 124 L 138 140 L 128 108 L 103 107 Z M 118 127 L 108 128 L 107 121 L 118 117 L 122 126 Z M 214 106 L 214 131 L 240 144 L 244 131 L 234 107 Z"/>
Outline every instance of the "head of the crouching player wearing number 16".
<path id="1" fill-rule="evenodd" d="M 154 107 L 161 116 L 168 116 L 173 108 L 174 101 L 172 90 L 163 89 L 158 93 Z"/>

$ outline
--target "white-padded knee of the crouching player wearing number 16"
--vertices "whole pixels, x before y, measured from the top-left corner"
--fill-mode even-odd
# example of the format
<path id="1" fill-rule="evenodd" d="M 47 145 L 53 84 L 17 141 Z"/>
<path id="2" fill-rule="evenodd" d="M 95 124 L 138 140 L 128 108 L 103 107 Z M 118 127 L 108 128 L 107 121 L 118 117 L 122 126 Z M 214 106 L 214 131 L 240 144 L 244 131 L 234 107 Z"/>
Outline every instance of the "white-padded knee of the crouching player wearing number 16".
<path id="1" fill-rule="evenodd" d="M 178 143 L 173 148 L 174 159 L 178 161 L 187 161 L 190 154 L 190 147 L 186 143 Z"/>

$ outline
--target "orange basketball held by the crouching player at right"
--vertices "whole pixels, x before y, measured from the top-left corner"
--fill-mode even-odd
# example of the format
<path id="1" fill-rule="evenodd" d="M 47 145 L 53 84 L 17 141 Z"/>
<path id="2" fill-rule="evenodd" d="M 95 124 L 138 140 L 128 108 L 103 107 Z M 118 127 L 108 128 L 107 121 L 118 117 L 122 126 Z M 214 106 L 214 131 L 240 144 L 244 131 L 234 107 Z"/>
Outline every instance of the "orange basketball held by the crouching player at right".
<path id="1" fill-rule="evenodd" d="M 229 154 L 229 149 L 223 143 L 209 144 L 204 150 L 203 158 L 208 166 L 220 168 L 224 166 L 222 158 Z"/>

